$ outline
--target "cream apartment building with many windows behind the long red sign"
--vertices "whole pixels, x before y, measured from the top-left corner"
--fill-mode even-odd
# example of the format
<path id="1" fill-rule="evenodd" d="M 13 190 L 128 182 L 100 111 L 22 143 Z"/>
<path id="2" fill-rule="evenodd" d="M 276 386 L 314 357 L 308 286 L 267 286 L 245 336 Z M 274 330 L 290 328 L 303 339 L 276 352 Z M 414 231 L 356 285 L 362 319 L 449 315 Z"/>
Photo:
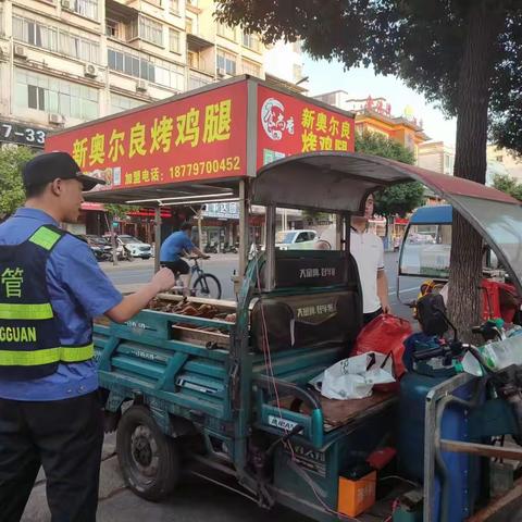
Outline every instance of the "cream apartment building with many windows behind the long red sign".
<path id="1" fill-rule="evenodd" d="M 237 74 L 264 78 L 258 36 L 213 11 L 211 0 L 0 1 L 0 141 L 42 147 L 63 126 Z"/>

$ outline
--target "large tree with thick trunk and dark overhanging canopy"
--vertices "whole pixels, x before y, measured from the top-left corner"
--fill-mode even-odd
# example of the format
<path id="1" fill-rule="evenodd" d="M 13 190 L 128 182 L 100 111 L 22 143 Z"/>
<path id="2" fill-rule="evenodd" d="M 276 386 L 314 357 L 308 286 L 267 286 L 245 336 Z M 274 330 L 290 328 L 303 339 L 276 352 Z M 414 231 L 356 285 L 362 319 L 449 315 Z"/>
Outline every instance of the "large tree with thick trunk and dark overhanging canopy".
<path id="1" fill-rule="evenodd" d="M 521 0 L 217 0 L 216 17 L 315 58 L 372 64 L 457 116 L 455 175 L 485 182 L 488 129 L 522 152 Z M 467 338 L 481 318 L 482 237 L 456 213 L 449 312 Z"/>

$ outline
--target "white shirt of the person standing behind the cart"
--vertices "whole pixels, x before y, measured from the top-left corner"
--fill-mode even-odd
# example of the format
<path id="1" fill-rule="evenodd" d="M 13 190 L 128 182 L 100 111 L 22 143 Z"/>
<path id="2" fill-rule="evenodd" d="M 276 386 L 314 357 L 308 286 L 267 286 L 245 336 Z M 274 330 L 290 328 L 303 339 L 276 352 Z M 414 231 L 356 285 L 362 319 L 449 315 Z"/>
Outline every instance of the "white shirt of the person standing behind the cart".
<path id="1" fill-rule="evenodd" d="M 377 272 L 384 270 L 383 240 L 370 232 L 351 229 L 350 252 L 356 259 L 362 288 L 362 311 L 372 313 L 381 308 L 377 296 Z"/>

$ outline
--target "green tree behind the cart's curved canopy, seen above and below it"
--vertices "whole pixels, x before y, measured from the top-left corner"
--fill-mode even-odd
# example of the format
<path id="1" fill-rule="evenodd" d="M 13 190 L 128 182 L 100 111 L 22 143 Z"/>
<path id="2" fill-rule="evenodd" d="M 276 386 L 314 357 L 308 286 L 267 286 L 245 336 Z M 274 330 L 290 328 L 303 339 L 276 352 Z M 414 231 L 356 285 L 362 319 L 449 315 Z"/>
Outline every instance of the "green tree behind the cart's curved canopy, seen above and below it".
<path id="1" fill-rule="evenodd" d="M 412 165 L 413 152 L 403 145 L 377 133 L 356 134 L 356 152 L 380 156 Z M 424 203 L 424 187 L 418 182 L 388 187 L 375 195 L 375 212 L 386 220 L 394 215 L 405 216 Z"/>

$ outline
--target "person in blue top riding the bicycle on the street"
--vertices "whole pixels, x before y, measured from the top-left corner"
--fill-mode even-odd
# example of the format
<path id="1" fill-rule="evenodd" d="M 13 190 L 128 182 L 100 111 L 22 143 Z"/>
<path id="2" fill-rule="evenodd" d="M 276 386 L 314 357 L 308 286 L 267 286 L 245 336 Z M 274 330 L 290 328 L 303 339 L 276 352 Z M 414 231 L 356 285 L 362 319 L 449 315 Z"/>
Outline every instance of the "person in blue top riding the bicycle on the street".
<path id="1" fill-rule="evenodd" d="M 191 233 L 191 223 L 183 223 L 179 231 L 171 234 L 163 241 L 160 249 L 160 264 L 171 269 L 176 277 L 179 275 L 185 288 L 188 288 L 187 274 L 190 272 L 190 266 L 181 257 L 185 253 L 189 253 L 197 256 L 198 258 L 210 258 L 210 256 L 203 253 L 190 240 Z"/>

